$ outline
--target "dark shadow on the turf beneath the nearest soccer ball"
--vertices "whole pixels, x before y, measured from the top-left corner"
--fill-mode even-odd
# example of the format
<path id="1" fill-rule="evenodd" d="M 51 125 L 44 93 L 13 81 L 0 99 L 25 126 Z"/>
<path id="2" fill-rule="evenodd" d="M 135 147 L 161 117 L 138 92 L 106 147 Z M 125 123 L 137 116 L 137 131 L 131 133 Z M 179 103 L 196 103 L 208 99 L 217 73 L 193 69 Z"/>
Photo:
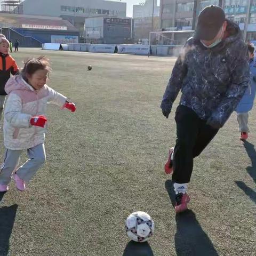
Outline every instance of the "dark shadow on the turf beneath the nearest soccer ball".
<path id="1" fill-rule="evenodd" d="M 154 256 L 154 254 L 148 242 L 130 241 L 125 247 L 123 256 Z"/>

